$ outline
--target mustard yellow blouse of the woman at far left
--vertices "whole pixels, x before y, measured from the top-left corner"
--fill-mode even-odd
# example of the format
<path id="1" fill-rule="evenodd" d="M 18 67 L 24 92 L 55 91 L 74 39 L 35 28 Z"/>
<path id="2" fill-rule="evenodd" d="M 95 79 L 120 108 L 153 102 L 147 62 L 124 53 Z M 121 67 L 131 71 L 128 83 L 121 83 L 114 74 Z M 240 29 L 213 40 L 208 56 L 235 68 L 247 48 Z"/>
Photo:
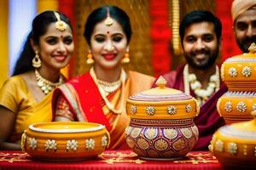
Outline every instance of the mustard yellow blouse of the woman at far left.
<path id="1" fill-rule="evenodd" d="M 15 128 L 9 141 L 17 142 L 26 128 L 37 122 L 51 122 L 52 93 L 37 102 L 20 76 L 10 77 L 0 89 L 0 105 L 16 114 Z"/>

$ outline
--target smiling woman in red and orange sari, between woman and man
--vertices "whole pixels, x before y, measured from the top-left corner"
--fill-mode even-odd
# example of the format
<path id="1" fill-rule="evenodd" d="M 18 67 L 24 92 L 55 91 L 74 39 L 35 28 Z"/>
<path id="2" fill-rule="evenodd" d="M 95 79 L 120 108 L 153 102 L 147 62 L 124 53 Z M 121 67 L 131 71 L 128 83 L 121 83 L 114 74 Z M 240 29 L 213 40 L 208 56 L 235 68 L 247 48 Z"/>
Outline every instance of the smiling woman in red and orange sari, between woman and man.
<path id="1" fill-rule="evenodd" d="M 84 26 L 89 44 L 89 72 L 57 88 L 53 98 L 55 121 L 97 122 L 110 133 L 110 149 L 125 149 L 125 127 L 129 117 L 125 100 L 149 89 L 154 77 L 125 71 L 129 62 L 130 19 L 115 6 L 96 8 Z"/>

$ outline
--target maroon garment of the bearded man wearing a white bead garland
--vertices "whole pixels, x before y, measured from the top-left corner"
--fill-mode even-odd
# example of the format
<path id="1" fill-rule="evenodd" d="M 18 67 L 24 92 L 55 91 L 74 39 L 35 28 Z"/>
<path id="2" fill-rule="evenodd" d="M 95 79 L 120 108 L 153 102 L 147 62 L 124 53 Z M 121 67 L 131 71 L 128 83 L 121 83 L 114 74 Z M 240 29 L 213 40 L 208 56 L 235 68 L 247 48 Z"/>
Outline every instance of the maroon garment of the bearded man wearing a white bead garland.
<path id="1" fill-rule="evenodd" d="M 167 80 L 167 87 L 176 88 L 184 92 L 183 68 L 184 65 L 177 68 L 177 71 L 171 71 L 164 75 Z M 221 82 L 218 92 L 201 105 L 200 114 L 194 118 L 195 125 L 199 130 L 199 139 L 193 150 L 208 150 L 212 134 L 218 127 L 224 126 L 224 119 L 218 115 L 216 105 L 218 99 L 227 91 L 228 88 L 224 82 Z M 194 91 L 191 88 L 190 95 L 195 97 Z"/>

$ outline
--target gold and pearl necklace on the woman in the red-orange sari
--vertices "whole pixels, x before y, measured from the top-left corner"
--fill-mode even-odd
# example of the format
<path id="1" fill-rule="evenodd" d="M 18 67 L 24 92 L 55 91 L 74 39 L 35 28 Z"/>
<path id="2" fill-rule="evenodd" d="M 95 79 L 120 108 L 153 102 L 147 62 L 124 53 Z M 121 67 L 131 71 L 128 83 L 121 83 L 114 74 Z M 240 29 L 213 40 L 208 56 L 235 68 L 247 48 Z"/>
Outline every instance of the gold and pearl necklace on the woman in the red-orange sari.
<path id="1" fill-rule="evenodd" d="M 120 83 L 122 85 L 122 87 L 121 87 L 121 94 L 120 94 L 121 95 L 121 101 L 120 101 L 121 105 L 119 106 L 119 110 L 114 109 L 114 106 L 110 103 L 110 101 L 108 101 L 108 98 L 107 98 L 108 93 L 106 93 L 104 88 L 102 88 L 102 86 L 100 85 L 100 83 L 103 82 L 103 81 L 97 79 L 96 73 L 95 73 L 93 67 L 90 69 L 90 76 L 93 78 L 94 82 L 96 82 L 96 85 L 97 85 L 97 87 L 98 87 L 98 89 L 100 91 L 102 99 L 104 100 L 105 104 L 107 105 L 109 111 L 112 111 L 115 114 L 121 114 L 122 110 L 123 110 L 123 107 L 124 107 L 124 102 L 125 102 L 125 80 L 126 80 L 126 74 L 125 74 L 124 69 L 121 70 L 121 75 L 120 75 L 120 78 L 119 78 L 119 81 L 120 81 Z M 117 81 L 117 82 L 119 82 L 119 81 Z M 108 82 L 108 83 L 112 84 L 111 82 Z M 113 82 L 113 83 L 116 83 L 116 82 Z"/>

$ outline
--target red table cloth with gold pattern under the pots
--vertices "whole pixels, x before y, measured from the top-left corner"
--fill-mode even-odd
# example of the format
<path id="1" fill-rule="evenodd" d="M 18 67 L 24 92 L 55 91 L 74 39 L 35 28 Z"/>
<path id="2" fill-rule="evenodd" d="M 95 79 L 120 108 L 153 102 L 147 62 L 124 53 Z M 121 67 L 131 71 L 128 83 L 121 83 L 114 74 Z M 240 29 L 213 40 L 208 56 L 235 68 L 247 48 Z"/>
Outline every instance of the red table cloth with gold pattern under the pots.
<path id="1" fill-rule="evenodd" d="M 97 170 L 97 169 L 222 169 L 215 156 L 207 151 L 189 152 L 183 160 L 178 161 L 146 161 L 140 159 L 131 150 L 107 150 L 94 160 L 73 162 L 36 161 L 21 151 L 0 151 L 0 169 L 32 169 L 32 170 Z"/>

